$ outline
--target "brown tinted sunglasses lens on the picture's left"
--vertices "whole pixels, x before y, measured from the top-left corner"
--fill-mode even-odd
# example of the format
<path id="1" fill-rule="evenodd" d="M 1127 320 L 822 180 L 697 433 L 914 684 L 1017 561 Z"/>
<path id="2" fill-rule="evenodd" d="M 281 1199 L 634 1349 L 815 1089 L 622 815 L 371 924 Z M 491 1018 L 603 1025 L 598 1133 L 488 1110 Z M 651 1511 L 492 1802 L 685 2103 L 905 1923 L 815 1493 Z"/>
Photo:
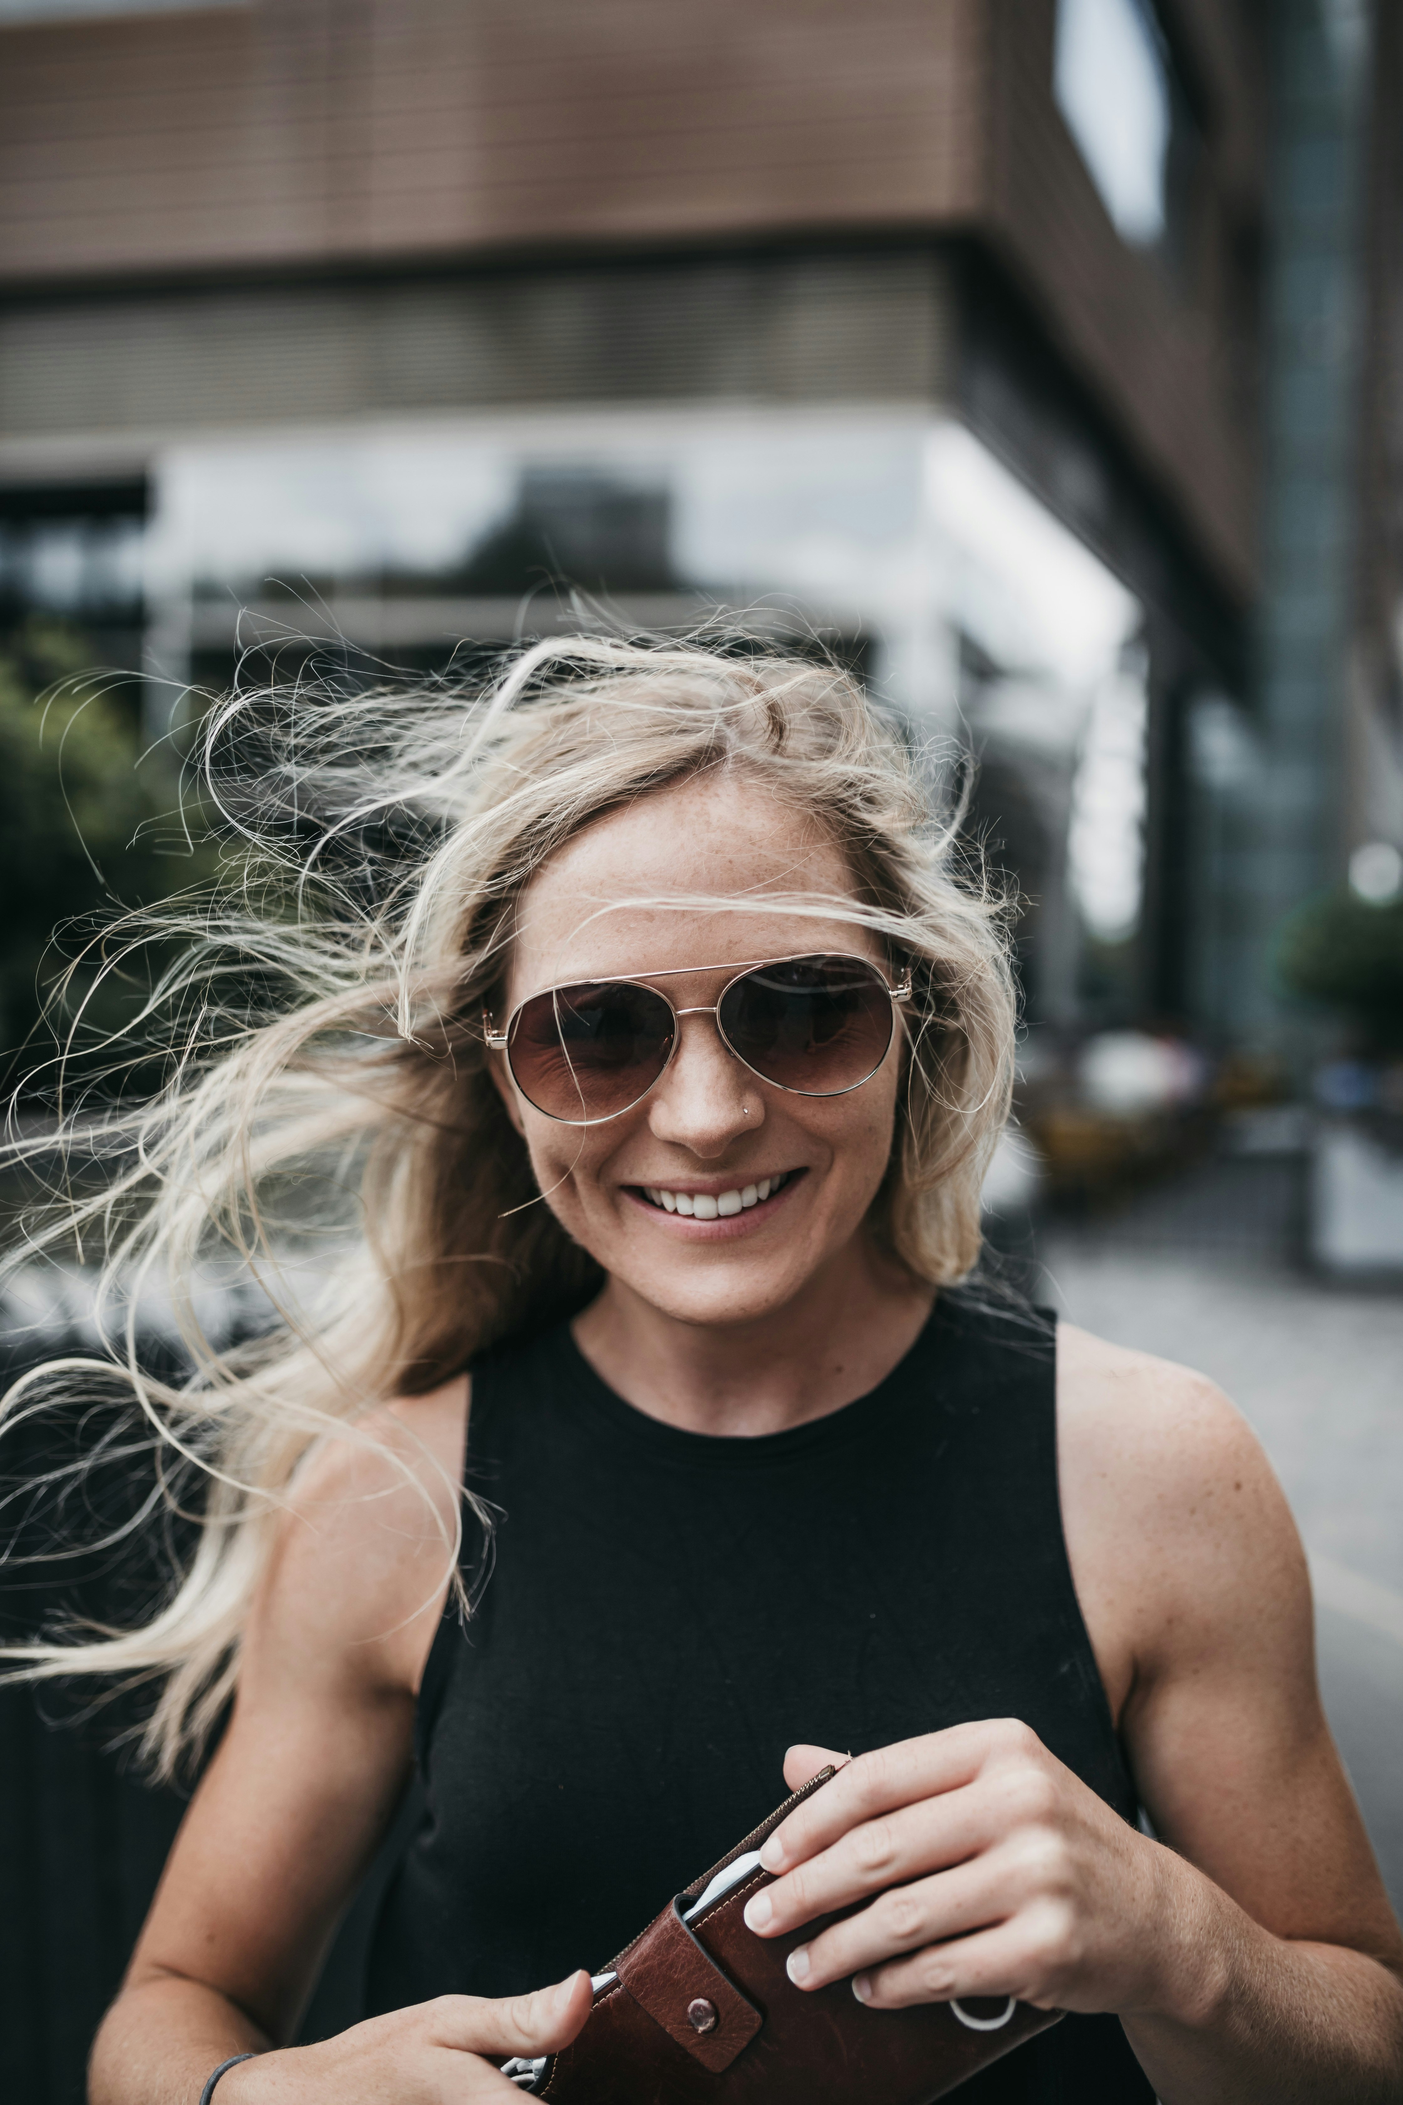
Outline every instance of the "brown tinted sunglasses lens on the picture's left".
<path id="1" fill-rule="evenodd" d="M 614 1118 L 646 1097 L 673 1050 L 673 1013 L 650 987 L 553 987 L 511 1025 L 517 1088 L 547 1118 Z"/>

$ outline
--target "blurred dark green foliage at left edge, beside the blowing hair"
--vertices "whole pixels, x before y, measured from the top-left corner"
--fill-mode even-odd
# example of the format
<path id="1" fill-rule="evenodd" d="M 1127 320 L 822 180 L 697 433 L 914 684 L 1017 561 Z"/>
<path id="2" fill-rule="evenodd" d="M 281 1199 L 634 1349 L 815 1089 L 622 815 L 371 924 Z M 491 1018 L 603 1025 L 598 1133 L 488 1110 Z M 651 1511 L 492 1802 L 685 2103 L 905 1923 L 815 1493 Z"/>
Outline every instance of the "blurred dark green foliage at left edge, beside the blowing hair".
<path id="1" fill-rule="evenodd" d="M 177 766 L 141 758 L 137 682 L 93 674 L 80 629 L 32 617 L 0 644 L 0 1076 L 38 1090 L 88 996 L 82 1040 L 139 1004 L 149 966 L 99 975 L 99 922 L 204 874 L 175 817 Z M 86 956 L 80 956 L 84 954 Z M 50 996 L 78 960 L 57 1006 Z M 97 983 L 97 985 L 95 985 Z M 50 1008 L 46 1017 L 46 1008 Z M 93 1074 L 95 1059 L 78 1055 Z M 107 1061 L 111 1055 L 107 1055 Z"/>

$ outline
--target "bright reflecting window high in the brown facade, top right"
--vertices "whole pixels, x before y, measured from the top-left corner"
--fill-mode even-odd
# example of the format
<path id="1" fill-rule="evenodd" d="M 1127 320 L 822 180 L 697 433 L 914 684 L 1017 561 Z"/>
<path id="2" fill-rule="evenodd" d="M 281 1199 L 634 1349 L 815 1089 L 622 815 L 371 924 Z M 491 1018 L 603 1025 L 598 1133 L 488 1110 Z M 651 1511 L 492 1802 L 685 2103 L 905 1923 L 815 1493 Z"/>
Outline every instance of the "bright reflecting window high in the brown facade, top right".
<path id="1" fill-rule="evenodd" d="M 1161 242 L 1176 95 L 1148 0 L 1058 0 L 1052 91 L 1121 240 Z"/>

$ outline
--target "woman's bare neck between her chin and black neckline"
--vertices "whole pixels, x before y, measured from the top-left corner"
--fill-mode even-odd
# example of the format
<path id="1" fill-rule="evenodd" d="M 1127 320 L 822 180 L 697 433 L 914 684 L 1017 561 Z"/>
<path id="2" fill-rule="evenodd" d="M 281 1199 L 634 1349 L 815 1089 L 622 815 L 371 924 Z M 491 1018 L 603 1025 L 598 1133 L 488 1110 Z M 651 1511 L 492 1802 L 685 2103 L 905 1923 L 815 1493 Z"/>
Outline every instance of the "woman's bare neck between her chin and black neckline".
<path id="1" fill-rule="evenodd" d="M 932 1288 L 869 1238 L 839 1252 L 793 1301 L 749 1322 L 669 1316 L 610 1280 L 574 1324 L 608 1385 L 684 1431 L 755 1438 L 787 1431 L 867 1396 L 911 1349 Z"/>

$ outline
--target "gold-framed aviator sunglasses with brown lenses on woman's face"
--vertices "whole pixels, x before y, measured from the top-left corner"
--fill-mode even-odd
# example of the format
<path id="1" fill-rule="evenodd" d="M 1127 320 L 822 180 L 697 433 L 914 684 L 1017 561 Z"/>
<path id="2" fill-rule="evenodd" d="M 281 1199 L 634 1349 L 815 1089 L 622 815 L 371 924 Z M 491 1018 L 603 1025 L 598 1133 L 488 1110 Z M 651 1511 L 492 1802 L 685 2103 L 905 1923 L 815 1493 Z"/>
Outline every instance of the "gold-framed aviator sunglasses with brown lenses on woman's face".
<path id="1" fill-rule="evenodd" d="M 715 970 L 688 964 L 652 977 Z M 532 994 L 503 1031 L 490 1010 L 482 1025 L 528 1103 L 560 1124 L 597 1126 L 656 1088 L 677 1050 L 682 1017 L 715 1017 L 726 1048 L 774 1088 L 843 1097 L 881 1067 L 894 1004 L 907 1000 L 909 970 L 890 987 L 871 960 L 822 951 L 749 964 L 705 1008 L 673 1008 L 637 979 L 581 979 Z"/>

